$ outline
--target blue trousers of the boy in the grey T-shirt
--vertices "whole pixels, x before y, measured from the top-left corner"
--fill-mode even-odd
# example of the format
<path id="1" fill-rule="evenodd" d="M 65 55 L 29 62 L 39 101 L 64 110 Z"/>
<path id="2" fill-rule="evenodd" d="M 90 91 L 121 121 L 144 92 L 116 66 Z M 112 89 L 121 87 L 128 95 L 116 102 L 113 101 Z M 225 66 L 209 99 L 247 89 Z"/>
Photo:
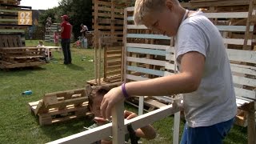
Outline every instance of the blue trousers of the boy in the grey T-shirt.
<path id="1" fill-rule="evenodd" d="M 192 128 L 185 125 L 181 144 L 221 144 L 222 139 L 233 126 L 234 118 L 220 122 L 213 126 L 202 126 Z"/>

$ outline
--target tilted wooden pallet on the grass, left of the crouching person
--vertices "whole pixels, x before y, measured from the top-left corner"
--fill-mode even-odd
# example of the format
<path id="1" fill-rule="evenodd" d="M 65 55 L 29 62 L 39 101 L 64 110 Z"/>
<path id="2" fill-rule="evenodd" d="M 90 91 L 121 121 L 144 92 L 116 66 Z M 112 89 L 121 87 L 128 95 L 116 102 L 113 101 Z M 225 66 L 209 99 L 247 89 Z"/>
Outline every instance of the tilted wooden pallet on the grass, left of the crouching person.
<path id="1" fill-rule="evenodd" d="M 86 117 L 90 114 L 87 108 L 86 89 L 45 94 L 42 100 L 29 102 L 28 106 L 31 113 L 38 116 L 41 126 Z"/>

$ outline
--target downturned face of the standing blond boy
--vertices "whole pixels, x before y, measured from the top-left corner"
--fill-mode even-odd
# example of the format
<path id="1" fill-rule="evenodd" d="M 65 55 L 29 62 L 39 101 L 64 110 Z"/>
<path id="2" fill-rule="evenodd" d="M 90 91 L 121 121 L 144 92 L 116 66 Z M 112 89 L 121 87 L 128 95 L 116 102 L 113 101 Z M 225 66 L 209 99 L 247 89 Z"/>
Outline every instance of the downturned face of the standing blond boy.
<path id="1" fill-rule="evenodd" d="M 163 35 L 175 36 L 181 19 L 177 10 L 178 6 L 175 5 L 165 6 L 163 10 L 154 10 L 143 18 L 145 26 Z"/>

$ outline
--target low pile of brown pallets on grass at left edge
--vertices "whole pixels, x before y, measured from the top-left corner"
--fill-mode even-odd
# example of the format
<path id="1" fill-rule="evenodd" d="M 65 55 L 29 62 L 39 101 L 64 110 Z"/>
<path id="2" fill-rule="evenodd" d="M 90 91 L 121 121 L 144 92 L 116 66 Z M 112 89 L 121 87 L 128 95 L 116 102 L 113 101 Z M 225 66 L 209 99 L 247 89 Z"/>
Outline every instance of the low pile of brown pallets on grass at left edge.
<path id="1" fill-rule="evenodd" d="M 0 35 L 0 68 L 11 69 L 45 64 L 40 60 L 43 49 L 37 47 L 22 47 L 20 36 Z"/>

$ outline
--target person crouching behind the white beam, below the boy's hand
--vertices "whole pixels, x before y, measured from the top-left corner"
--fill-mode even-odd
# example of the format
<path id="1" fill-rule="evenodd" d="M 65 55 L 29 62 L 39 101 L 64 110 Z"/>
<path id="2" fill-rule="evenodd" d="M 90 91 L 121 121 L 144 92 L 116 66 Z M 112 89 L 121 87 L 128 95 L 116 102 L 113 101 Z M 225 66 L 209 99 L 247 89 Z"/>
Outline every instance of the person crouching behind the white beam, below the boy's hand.
<path id="1" fill-rule="evenodd" d="M 110 90 L 109 86 L 96 86 L 89 94 L 88 96 L 88 106 L 92 114 L 94 114 L 94 122 L 96 122 L 94 125 L 90 126 L 88 129 L 92 129 L 97 126 L 102 126 L 106 124 L 108 121 L 106 119 L 102 118 L 100 106 L 103 99 L 104 94 L 106 94 Z M 134 117 L 137 117 L 137 114 L 125 110 L 124 111 L 124 117 L 126 119 L 131 119 Z M 137 130 L 134 130 L 136 141 L 138 141 L 139 138 L 146 138 L 147 140 L 153 139 L 156 137 L 156 132 L 154 128 L 150 125 L 144 126 L 142 128 L 139 128 Z M 126 134 L 126 142 L 131 138 L 130 134 Z M 97 142 L 95 142 L 97 143 Z M 101 142 L 98 142 L 101 144 L 110 144 L 112 143 L 111 138 L 103 139 Z"/>

